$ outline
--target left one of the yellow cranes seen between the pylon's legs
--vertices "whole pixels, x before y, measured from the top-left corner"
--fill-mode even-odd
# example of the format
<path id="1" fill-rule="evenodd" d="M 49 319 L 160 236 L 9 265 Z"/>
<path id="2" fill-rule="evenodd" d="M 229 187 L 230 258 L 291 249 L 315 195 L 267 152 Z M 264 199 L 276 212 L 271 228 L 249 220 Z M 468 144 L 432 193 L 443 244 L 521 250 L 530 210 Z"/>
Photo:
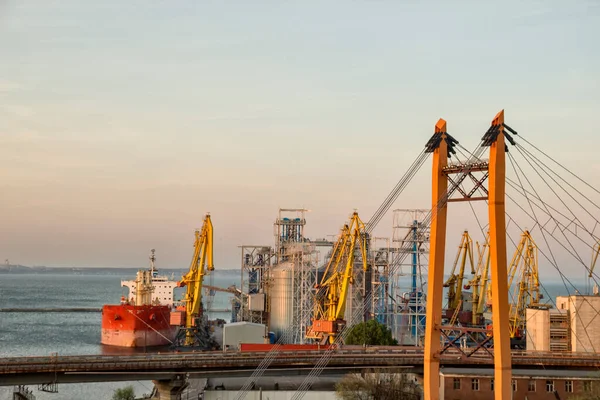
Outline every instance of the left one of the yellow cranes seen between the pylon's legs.
<path id="1" fill-rule="evenodd" d="M 460 311 L 462 305 L 464 304 L 462 301 L 462 290 L 467 261 L 471 266 L 471 274 L 474 274 L 475 267 L 473 264 L 473 240 L 471 239 L 471 236 L 469 236 L 469 232 L 464 231 L 460 240 L 460 245 L 458 246 L 456 258 L 454 259 L 452 272 L 450 273 L 448 280 L 444 282 L 444 287 L 448 288 L 448 309 L 446 310 L 446 317 L 451 320 L 456 320 L 456 318 L 453 318 L 457 312 L 456 310 L 458 309 Z M 460 267 L 457 273 L 456 267 L 458 266 L 459 262 Z M 458 316 L 458 314 L 456 315 Z"/>

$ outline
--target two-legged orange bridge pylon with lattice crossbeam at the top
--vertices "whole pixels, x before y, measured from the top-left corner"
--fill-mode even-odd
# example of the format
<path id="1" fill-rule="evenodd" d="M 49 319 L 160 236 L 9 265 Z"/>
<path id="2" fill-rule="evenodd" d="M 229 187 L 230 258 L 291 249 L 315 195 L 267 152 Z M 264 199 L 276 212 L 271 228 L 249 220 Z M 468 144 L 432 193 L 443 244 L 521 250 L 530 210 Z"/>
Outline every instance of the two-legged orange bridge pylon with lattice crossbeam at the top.
<path id="1" fill-rule="evenodd" d="M 496 400 L 512 398 L 512 370 L 509 336 L 509 307 L 506 260 L 506 220 L 505 220 L 505 173 L 506 144 L 504 110 L 492 120 L 492 124 L 483 137 L 482 147 L 490 147 L 490 160 L 487 165 L 487 197 L 473 198 L 466 195 L 464 201 L 488 200 L 490 225 L 490 263 L 492 315 L 494 330 L 494 397 Z M 510 128 L 507 128 L 509 131 Z M 424 392 L 426 400 L 439 399 L 439 353 L 441 347 L 442 286 L 444 275 L 444 253 L 446 246 L 446 222 L 448 196 L 448 175 L 464 175 L 479 170 L 476 165 L 461 165 L 448 168 L 448 156 L 451 153 L 452 137 L 446 131 L 446 121 L 440 119 L 435 126 L 434 137 L 428 150 L 433 152 L 432 167 L 432 221 L 430 234 L 430 257 L 428 272 L 427 324 L 425 327 L 424 355 Z M 512 140 L 509 137 L 508 140 Z M 450 150 L 450 153 L 449 153 Z M 478 158 L 478 157 L 475 157 Z M 476 159 L 475 162 L 481 164 Z M 483 168 L 483 167 L 482 167 Z"/>

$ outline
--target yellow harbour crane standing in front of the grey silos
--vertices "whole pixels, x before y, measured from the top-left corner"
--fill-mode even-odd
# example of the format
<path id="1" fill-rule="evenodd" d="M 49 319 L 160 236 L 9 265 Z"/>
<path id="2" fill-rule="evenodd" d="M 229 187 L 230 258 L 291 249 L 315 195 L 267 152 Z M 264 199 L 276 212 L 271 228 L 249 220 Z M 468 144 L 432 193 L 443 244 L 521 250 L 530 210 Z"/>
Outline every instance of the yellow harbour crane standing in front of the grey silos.
<path id="1" fill-rule="evenodd" d="M 313 324 L 308 329 L 307 338 L 334 343 L 338 333 L 346 325 L 344 312 L 348 291 L 354 282 L 353 269 L 357 250 L 361 253 L 363 270 L 367 271 L 367 233 L 358 213 L 354 212 L 350 222 L 342 228 L 321 282 L 316 285 Z"/>

